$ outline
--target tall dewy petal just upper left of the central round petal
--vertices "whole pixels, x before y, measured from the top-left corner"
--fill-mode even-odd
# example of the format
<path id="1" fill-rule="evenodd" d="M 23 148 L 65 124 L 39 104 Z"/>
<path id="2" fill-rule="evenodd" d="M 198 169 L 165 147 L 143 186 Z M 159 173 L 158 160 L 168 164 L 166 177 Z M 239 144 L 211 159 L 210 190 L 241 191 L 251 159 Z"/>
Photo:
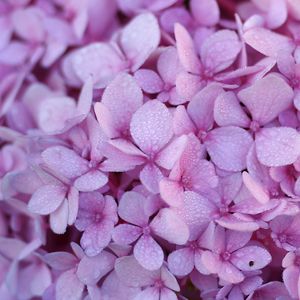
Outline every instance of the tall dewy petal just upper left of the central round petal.
<path id="1" fill-rule="evenodd" d="M 106 87 L 101 103 L 110 112 L 114 130 L 119 136 L 127 135 L 132 115 L 143 104 L 143 94 L 132 76 L 121 73 Z M 100 124 L 106 121 L 105 118 L 98 118 Z"/>

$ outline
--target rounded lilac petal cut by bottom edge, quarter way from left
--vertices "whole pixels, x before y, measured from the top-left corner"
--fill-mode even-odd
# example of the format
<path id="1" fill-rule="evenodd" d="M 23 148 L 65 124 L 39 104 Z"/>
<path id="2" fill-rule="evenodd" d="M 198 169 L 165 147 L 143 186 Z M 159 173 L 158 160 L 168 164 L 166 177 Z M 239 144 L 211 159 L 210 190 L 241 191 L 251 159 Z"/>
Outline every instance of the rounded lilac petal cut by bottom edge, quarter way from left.
<path id="1" fill-rule="evenodd" d="M 55 299 L 57 300 L 79 300 L 81 299 L 84 284 L 77 278 L 75 269 L 62 273 L 55 286 Z"/>

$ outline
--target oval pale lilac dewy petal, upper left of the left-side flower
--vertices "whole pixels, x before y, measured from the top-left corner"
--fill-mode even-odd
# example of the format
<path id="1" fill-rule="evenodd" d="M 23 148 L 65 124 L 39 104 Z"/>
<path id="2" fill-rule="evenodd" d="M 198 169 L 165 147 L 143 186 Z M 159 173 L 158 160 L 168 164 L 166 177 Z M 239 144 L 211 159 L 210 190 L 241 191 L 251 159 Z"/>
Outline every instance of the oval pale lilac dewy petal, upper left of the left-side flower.
<path id="1" fill-rule="evenodd" d="M 87 161 L 63 146 L 46 149 L 42 152 L 42 158 L 51 169 L 67 178 L 74 178 L 88 171 Z"/>

